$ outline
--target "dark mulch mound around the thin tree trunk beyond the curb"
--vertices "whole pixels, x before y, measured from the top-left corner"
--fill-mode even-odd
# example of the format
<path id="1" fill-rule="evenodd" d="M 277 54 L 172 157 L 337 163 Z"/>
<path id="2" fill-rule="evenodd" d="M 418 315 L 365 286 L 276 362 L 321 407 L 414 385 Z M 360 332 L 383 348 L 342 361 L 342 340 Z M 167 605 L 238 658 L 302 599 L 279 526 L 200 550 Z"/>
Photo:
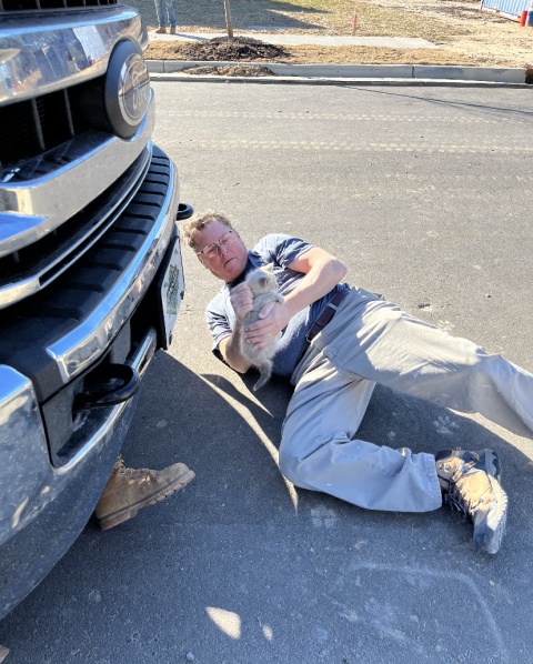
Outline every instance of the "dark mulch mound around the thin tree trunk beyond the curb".
<path id="1" fill-rule="evenodd" d="M 227 60 L 229 62 L 244 60 L 270 60 L 288 58 L 290 53 L 282 47 L 272 43 L 264 43 L 257 39 L 214 38 L 207 41 L 187 42 L 180 47 L 180 53 L 184 60 Z"/>

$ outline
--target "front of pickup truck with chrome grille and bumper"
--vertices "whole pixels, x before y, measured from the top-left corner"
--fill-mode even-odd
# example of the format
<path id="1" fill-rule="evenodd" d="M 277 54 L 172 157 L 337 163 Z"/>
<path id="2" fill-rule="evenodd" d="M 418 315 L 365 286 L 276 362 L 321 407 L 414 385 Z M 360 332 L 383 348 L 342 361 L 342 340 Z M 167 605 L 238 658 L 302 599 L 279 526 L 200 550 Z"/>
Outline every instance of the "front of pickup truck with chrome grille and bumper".
<path id="1" fill-rule="evenodd" d="M 0 0 L 0 618 L 88 522 L 184 282 L 139 12 Z"/>

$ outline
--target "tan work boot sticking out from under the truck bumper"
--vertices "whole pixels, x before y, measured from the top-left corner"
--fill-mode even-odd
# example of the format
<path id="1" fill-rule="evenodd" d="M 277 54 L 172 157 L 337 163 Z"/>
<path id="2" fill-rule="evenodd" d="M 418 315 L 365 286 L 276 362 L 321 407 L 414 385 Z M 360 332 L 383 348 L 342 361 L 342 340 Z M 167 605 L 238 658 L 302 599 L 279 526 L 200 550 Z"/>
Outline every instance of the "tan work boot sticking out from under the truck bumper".
<path id="1" fill-rule="evenodd" d="M 183 463 L 162 471 L 135 470 L 124 467 L 119 456 L 94 510 L 100 527 L 107 531 L 128 521 L 142 507 L 164 500 L 193 479 L 193 471 Z"/>

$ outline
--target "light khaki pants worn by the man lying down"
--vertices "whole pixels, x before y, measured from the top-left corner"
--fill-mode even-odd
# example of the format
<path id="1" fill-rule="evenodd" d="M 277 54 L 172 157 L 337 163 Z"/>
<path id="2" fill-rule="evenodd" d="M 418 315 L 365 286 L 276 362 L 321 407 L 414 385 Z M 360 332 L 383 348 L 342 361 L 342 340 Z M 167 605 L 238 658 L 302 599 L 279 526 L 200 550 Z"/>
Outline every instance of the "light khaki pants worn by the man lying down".
<path id="1" fill-rule="evenodd" d="M 376 383 L 521 435 L 533 431 L 533 375 L 465 339 L 352 289 L 296 366 L 280 470 L 296 486 L 370 510 L 441 506 L 432 454 L 354 439 Z"/>

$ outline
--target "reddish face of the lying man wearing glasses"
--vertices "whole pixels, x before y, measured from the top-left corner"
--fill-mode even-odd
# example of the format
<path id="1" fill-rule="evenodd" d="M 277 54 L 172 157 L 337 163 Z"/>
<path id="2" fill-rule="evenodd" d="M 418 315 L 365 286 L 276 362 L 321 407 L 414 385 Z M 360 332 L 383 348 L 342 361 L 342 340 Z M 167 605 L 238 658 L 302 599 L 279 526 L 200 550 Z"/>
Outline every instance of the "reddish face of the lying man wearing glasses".
<path id="1" fill-rule="evenodd" d="M 224 223 L 212 221 L 204 229 L 194 233 L 194 241 L 198 249 L 201 250 L 218 242 L 229 230 Z M 218 251 L 214 255 L 198 255 L 200 262 L 205 265 L 211 274 L 214 274 L 214 276 L 222 279 L 227 283 L 230 283 L 244 272 L 248 261 L 248 249 L 239 233 L 232 231 L 230 238 L 231 241 L 225 245 L 218 245 Z"/>

